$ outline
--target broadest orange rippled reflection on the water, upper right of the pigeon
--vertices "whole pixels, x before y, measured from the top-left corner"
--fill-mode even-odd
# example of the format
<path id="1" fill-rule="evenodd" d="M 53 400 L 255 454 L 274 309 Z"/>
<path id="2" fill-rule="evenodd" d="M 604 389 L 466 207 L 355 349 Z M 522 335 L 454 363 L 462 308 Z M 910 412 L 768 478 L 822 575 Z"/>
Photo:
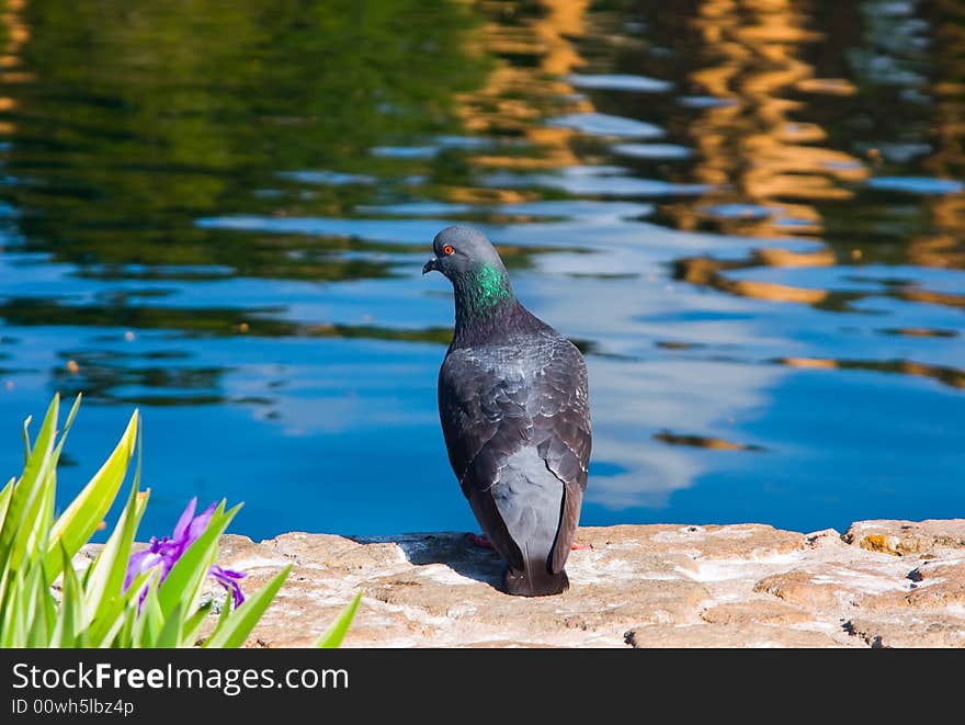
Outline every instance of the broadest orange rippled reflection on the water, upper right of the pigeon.
<path id="1" fill-rule="evenodd" d="M 791 92 L 849 95 L 854 86 L 817 78 L 801 59 L 805 45 L 822 38 L 792 0 L 704 0 L 692 21 L 703 45 L 704 67 L 691 80 L 720 100 L 689 129 L 699 149 L 696 181 L 718 189 L 669 214 L 681 228 L 713 220 L 724 231 L 749 236 L 819 235 L 821 216 L 811 202 L 847 200 L 841 182 L 860 181 L 867 169 L 855 157 L 822 146 L 827 134 L 798 117 L 806 103 Z M 718 218 L 719 204 L 770 209 L 753 218 Z M 782 219 L 793 225 L 782 225 Z"/>

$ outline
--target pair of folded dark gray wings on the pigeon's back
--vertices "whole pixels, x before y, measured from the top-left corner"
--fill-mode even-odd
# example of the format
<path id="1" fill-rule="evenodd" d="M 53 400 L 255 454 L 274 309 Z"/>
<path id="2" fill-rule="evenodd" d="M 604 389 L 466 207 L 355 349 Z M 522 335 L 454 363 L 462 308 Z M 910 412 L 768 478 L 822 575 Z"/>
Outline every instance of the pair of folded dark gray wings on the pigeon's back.
<path id="1" fill-rule="evenodd" d="M 587 370 L 566 339 L 542 340 L 529 352 L 513 350 L 519 369 L 499 355 L 453 351 L 439 376 L 439 411 L 450 462 L 463 492 L 492 540 L 514 568 L 522 553 L 509 535 L 490 488 L 506 461 L 536 446 L 546 467 L 565 487 L 550 566 L 563 569 L 576 533 L 590 457 Z M 512 373 L 507 373 L 512 370 Z"/>

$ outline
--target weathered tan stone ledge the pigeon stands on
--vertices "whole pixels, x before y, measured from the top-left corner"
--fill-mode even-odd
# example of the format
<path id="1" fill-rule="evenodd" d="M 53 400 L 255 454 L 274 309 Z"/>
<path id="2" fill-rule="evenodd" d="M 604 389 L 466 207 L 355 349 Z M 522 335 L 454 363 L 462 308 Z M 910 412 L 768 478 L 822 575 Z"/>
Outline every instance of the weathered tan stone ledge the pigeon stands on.
<path id="1" fill-rule="evenodd" d="M 462 533 L 225 536 L 219 563 L 246 571 L 249 591 L 293 566 L 253 647 L 309 645 L 360 589 L 344 646 L 965 646 L 962 523 L 860 522 L 849 541 L 759 524 L 583 528 L 571 589 L 538 599 L 500 592 L 499 560 Z M 867 535 L 899 536 L 901 556 Z"/>

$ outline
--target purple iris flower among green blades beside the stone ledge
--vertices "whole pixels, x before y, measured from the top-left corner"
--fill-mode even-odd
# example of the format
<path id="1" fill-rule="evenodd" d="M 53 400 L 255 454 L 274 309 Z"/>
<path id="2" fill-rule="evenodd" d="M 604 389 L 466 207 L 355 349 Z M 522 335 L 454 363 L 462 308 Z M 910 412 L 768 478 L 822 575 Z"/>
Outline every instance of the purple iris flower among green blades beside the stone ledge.
<path id="1" fill-rule="evenodd" d="M 148 542 L 148 547 L 130 557 L 130 560 L 127 563 L 127 574 L 124 577 L 125 590 L 127 590 L 130 582 L 134 581 L 134 578 L 138 574 L 147 571 L 156 566 L 161 567 L 161 576 L 158 579 L 158 584 L 164 580 L 168 573 L 174 566 L 174 563 L 181 558 L 184 552 L 188 551 L 188 547 L 197 541 L 197 537 L 204 533 L 204 530 L 207 529 L 207 524 L 211 523 L 212 517 L 214 516 L 214 503 L 197 516 L 194 516 L 195 508 L 197 508 L 197 497 L 194 497 L 191 499 L 191 502 L 188 503 L 188 508 L 184 509 L 184 513 L 178 519 L 178 524 L 174 526 L 174 533 L 170 537 L 162 536 L 161 539 L 158 539 L 157 536 L 151 536 L 150 542 Z M 238 580 L 245 578 L 245 574 L 241 571 L 225 569 L 216 564 L 211 566 L 208 574 L 215 579 L 215 581 L 222 585 L 226 591 L 230 592 L 235 600 L 236 608 L 245 601 L 245 594 L 241 593 L 241 587 L 238 585 Z M 145 597 L 147 597 L 147 587 L 140 592 L 138 609 L 140 608 L 140 604 L 144 603 Z"/>

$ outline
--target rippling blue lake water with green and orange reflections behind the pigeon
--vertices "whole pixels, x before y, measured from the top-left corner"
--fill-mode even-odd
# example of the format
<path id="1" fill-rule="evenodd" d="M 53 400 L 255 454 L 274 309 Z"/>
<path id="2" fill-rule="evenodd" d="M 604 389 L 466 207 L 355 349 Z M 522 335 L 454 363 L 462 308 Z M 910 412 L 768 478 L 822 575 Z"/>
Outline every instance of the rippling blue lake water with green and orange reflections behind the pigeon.
<path id="1" fill-rule="evenodd" d="M 2 4 L 4 480 L 82 390 L 60 505 L 139 408 L 141 537 L 475 530 L 464 223 L 586 354 L 583 524 L 965 516 L 962 3 Z"/>

